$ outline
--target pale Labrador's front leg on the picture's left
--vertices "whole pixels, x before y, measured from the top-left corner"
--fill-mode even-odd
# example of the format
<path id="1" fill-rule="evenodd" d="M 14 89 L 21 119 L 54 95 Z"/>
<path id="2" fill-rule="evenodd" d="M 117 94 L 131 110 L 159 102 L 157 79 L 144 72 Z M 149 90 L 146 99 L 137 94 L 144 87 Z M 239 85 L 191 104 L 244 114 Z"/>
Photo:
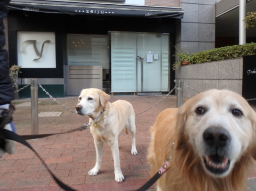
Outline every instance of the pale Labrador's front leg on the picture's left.
<path id="1" fill-rule="evenodd" d="M 94 168 L 88 172 L 90 176 L 98 175 L 98 172 L 100 170 L 101 160 L 102 160 L 103 144 L 104 143 L 102 142 L 102 140 L 94 139 L 94 145 L 96 149 L 96 163 Z"/>

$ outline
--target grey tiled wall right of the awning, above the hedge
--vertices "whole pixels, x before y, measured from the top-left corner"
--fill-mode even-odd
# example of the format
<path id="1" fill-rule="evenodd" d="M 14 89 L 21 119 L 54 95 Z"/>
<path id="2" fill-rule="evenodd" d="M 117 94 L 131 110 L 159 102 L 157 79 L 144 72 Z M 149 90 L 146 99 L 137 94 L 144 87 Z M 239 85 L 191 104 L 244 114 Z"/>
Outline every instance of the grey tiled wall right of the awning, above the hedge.
<path id="1" fill-rule="evenodd" d="M 177 21 L 176 46 L 201 52 L 215 47 L 215 0 L 181 0 L 183 19 Z"/>

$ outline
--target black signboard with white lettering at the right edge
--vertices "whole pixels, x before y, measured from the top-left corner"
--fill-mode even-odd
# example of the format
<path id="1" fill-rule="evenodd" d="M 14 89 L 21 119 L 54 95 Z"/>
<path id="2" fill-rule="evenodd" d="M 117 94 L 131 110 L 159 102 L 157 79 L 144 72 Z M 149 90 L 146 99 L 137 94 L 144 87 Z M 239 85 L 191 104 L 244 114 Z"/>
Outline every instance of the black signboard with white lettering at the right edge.
<path id="1" fill-rule="evenodd" d="M 243 88 L 245 99 L 256 98 L 256 55 L 243 57 Z M 256 104 L 256 99 L 249 101 Z"/>

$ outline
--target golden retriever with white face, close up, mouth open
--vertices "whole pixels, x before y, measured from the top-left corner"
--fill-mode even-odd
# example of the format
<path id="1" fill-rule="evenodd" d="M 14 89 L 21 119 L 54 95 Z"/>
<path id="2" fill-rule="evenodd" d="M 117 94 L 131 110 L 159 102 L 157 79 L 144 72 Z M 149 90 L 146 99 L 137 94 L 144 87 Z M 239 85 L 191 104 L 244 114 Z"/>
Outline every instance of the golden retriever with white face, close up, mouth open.
<path id="1" fill-rule="evenodd" d="M 251 106 L 229 90 L 207 90 L 161 112 L 151 129 L 152 175 L 172 159 L 157 190 L 245 191 L 256 158 L 255 124 Z"/>

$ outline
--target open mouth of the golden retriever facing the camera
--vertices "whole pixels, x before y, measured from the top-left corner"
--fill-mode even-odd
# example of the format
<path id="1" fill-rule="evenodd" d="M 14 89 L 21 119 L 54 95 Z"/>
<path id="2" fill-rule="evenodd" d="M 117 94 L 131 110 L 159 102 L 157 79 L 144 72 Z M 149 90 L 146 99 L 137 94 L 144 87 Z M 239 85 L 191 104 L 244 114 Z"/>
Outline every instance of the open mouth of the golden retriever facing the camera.
<path id="1" fill-rule="evenodd" d="M 218 154 L 203 157 L 207 170 L 214 174 L 221 174 L 229 169 L 230 160 Z"/>

